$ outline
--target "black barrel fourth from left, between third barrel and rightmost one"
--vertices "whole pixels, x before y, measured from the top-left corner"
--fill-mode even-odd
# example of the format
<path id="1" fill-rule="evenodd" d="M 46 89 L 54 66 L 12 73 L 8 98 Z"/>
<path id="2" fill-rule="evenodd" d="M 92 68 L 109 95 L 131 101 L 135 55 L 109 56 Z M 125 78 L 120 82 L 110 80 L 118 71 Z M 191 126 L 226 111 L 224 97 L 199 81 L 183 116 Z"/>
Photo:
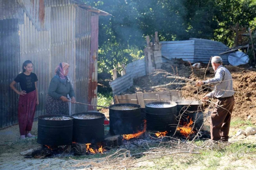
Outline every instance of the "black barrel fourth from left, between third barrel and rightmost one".
<path id="1" fill-rule="evenodd" d="M 170 107 L 156 108 L 150 105 L 166 104 Z M 174 102 L 151 102 L 146 104 L 146 119 L 148 131 L 175 131 L 177 127 L 177 104 Z"/>

